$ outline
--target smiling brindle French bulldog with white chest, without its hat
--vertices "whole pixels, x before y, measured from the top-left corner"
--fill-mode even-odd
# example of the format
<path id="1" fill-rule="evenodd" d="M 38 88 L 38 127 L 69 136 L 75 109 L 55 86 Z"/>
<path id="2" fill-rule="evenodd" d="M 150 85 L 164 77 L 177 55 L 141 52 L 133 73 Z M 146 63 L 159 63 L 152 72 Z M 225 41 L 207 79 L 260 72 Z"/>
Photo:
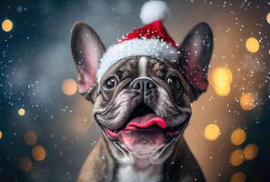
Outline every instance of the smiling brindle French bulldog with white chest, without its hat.
<path id="1" fill-rule="evenodd" d="M 208 86 L 213 50 L 209 25 L 200 23 L 189 31 L 175 62 L 128 56 L 100 81 L 95 75 L 105 45 L 95 30 L 76 23 L 71 49 L 78 92 L 94 104 L 92 116 L 102 133 L 78 182 L 205 181 L 183 132 L 192 115 L 191 103 Z"/>

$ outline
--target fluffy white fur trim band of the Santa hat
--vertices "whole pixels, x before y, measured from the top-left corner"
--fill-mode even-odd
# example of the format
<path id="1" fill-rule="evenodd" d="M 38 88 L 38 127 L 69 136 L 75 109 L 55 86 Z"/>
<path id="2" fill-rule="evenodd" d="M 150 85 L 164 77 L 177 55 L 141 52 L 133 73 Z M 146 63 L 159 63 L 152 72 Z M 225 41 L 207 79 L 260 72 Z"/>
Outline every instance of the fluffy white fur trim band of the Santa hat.
<path id="1" fill-rule="evenodd" d="M 100 60 L 96 73 L 97 81 L 101 81 L 111 66 L 129 56 L 156 56 L 175 62 L 178 54 L 175 47 L 158 39 L 132 39 L 112 45 Z"/>

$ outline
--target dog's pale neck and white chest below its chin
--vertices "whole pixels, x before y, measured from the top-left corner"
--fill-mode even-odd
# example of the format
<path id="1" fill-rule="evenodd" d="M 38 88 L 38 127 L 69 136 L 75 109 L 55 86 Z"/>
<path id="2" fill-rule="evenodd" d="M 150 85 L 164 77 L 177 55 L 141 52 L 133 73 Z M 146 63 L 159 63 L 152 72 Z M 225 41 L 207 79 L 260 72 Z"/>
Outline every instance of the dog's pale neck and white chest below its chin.
<path id="1" fill-rule="evenodd" d="M 118 144 L 108 141 L 105 137 L 104 140 L 118 164 L 115 171 L 116 181 L 156 182 L 163 178 L 165 160 L 172 154 L 173 148 L 168 148 L 167 152 L 157 158 L 140 158 L 119 147 Z M 174 147 L 174 145 L 168 145 L 168 147 Z"/>

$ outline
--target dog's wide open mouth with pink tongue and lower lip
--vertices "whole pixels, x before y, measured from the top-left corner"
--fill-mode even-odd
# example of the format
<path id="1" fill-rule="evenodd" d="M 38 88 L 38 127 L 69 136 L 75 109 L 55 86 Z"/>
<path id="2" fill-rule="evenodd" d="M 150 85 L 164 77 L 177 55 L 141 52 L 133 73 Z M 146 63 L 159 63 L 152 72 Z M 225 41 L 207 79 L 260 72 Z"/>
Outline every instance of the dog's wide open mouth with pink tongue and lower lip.
<path id="1" fill-rule="evenodd" d="M 179 136 L 185 124 L 168 127 L 165 118 L 158 116 L 155 111 L 140 104 L 135 107 L 124 126 L 117 130 L 103 127 L 106 136 L 113 141 L 119 141 L 125 147 L 161 147 Z"/>

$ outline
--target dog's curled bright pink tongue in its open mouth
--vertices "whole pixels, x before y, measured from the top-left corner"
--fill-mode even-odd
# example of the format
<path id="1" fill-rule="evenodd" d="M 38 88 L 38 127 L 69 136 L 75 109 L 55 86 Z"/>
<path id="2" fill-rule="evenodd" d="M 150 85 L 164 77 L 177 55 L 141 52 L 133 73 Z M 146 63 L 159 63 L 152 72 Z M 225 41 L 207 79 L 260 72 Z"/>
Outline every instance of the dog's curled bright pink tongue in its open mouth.
<path id="1" fill-rule="evenodd" d="M 145 128 L 148 126 L 156 125 L 165 128 L 165 120 L 159 116 L 150 114 L 143 117 L 136 117 L 125 126 L 124 131 L 134 130 L 135 128 Z"/>

